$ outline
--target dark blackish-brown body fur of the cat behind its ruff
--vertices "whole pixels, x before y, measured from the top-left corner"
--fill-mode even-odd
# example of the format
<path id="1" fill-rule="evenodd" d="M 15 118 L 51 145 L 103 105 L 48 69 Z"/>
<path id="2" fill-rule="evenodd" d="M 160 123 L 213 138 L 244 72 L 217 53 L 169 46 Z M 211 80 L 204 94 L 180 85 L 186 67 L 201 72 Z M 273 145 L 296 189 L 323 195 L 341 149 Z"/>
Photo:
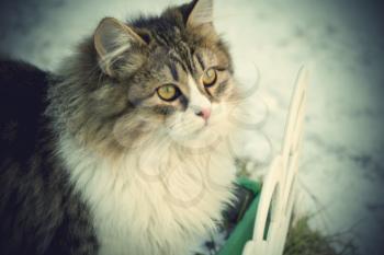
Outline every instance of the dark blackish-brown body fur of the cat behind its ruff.
<path id="1" fill-rule="evenodd" d="M 54 155 L 48 74 L 0 61 L 0 254 L 94 254 L 86 204 Z"/>

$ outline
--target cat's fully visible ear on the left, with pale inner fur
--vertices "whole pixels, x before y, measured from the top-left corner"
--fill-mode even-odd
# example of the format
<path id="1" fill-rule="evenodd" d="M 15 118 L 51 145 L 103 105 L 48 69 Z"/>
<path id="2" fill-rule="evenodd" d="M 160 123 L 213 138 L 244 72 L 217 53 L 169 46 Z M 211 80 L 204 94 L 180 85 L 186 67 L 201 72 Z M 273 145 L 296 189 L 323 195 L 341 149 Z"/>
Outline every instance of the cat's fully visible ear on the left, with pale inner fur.
<path id="1" fill-rule="evenodd" d="M 147 45 L 146 37 L 114 18 L 104 18 L 93 35 L 94 47 L 102 70 L 113 77 L 113 63 L 133 45 Z"/>

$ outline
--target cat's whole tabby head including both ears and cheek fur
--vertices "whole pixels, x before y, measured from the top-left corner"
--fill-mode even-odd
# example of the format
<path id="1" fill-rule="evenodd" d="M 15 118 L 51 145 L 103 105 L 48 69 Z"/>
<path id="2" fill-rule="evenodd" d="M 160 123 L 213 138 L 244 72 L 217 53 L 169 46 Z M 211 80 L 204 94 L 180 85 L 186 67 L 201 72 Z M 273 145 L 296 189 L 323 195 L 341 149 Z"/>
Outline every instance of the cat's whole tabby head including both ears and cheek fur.
<path id="1" fill-rule="evenodd" d="M 79 89 L 86 98 L 74 120 L 83 123 L 81 134 L 92 134 L 84 137 L 113 137 L 129 148 L 158 138 L 188 144 L 226 132 L 236 88 L 228 49 L 213 24 L 213 0 L 129 22 L 105 18 L 87 54 L 98 70 L 81 67 L 88 84 Z"/>

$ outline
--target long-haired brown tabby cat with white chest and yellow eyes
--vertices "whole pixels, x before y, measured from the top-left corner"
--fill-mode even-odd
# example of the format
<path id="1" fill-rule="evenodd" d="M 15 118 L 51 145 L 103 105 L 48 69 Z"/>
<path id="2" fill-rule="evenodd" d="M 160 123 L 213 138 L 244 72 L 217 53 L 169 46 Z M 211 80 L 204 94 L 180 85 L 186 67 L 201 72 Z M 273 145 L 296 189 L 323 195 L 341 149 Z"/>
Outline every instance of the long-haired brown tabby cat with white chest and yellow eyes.
<path id="1" fill-rule="evenodd" d="M 0 254 L 194 254 L 235 200 L 213 0 L 103 19 L 55 72 L 0 62 Z"/>

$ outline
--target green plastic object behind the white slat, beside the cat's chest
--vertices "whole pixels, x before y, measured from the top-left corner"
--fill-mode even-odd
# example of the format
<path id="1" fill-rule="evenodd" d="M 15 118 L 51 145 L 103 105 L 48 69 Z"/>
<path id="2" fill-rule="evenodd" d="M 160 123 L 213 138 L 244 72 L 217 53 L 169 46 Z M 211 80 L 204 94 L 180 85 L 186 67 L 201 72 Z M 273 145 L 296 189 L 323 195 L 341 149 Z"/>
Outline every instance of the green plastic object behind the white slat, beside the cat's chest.
<path id="1" fill-rule="evenodd" d="M 216 255 L 241 255 L 248 241 L 252 239 L 256 211 L 258 209 L 261 185 L 249 178 L 239 178 L 237 183 L 255 193 L 253 201 L 250 204 L 242 219 L 237 223 L 225 245 Z"/>

